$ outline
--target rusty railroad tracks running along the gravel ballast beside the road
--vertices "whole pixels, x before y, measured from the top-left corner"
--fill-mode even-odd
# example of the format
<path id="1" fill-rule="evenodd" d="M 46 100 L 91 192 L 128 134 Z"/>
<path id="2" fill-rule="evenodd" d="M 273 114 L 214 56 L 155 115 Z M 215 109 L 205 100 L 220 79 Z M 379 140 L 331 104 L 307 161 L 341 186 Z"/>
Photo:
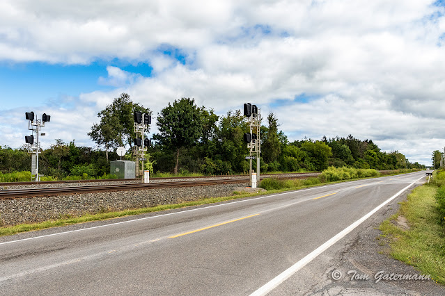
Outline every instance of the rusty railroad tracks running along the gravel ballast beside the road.
<path id="1" fill-rule="evenodd" d="M 320 173 L 300 173 L 300 174 L 264 174 L 262 179 L 277 176 L 279 178 L 304 179 L 309 176 L 317 176 Z M 70 187 L 44 187 L 44 188 L 22 188 L 22 189 L 5 189 L 0 190 L 0 199 L 17 199 L 17 198 L 32 198 L 32 197 L 50 197 L 56 195 L 72 195 L 81 193 L 93 192 L 110 192 L 110 191 L 125 191 L 125 190 L 148 190 L 153 188 L 175 188 L 175 187 L 192 187 L 192 186 L 211 186 L 219 184 L 233 184 L 233 183 L 247 183 L 249 176 L 238 175 L 232 176 L 230 179 L 227 176 L 223 177 L 176 177 L 175 179 L 194 179 L 190 181 L 162 181 L 153 183 L 117 183 L 112 185 L 90 185 L 90 186 L 70 186 Z M 153 178 L 164 179 L 164 178 Z M 150 179 L 150 181 L 153 181 Z M 198 179 L 198 180 L 196 180 Z M 105 181 L 128 181 L 129 179 L 109 179 Z M 133 179 L 134 180 L 134 179 Z M 164 179 L 165 180 L 165 179 Z M 97 180 L 83 180 L 81 183 L 91 183 Z M 135 180 L 134 180 L 135 181 Z M 41 181 L 41 182 L 15 182 L 15 183 L 0 183 L 0 186 L 11 185 L 38 185 L 38 184 L 54 184 L 54 183 L 75 183 L 75 181 Z M 79 182 L 78 182 L 79 183 Z"/>

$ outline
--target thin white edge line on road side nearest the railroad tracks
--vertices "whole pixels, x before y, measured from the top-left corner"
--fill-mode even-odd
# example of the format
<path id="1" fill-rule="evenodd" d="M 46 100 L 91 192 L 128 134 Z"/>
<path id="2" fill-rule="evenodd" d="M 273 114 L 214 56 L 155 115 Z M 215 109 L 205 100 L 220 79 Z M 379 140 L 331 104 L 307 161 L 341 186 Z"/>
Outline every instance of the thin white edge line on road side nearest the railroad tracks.
<path id="1" fill-rule="evenodd" d="M 384 178 L 384 177 L 382 177 L 382 178 Z M 350 181 L 350 183 L 358 182 L 358 181 L 363 181 L 363 180 Z M 326 188 L 326 187 L 336 186 L 336 185 L 337 184 L 330 184 L 330 185 L 323 186 L 323 187 Z M 164 217 L 164 216 L 168 216 L 168 215 L 175 215 L 175 214 L 187 213 L 187 212 L 191 212 L 191 211 L 204 210 L 204 209 L 207 209 L 207 208 L 214 208 L 214 207 L 217 207 L 217 206 L 228 206 L 228 205 L 231 205 L 231 204 L 237 204 L 239 202 L 249 202 L 249 201 L 256 200 L 256 199 L 276 197 L 276 196 L 279 196 L 279 195 L 288 195 L 290 193 L 302 192 L 302 191 L 307 191 L 307 190 L 313 190 L 315 188 L 319 188 L 319 187 L 311 187 L 311 188 L 305 188 L 305 189 L 301 189 L 301 190 L 292 190 L 292 191 L 287 191 L 287 192 L 276 193 L 274 195 L 267 195 L 267 196 L 264 196 L 264 197 L 256 197 L 256 198 L 253 198 L 253 199 L 244 199 L 244 200 L 240 200 L 240 201 L 236 201 L 236 202 L 228 202 L 226 204 L 216 204 L 214 206 L 205 206 L 203 208 L 193 208 L 191 210 L 180 211 L 180 212 L 175 212 L 175 213 L 167 213 L 167 214 L 162 214 L 162 215 L 155 215 L 155 216 L 150 216 L 150 217 L 143 217 L 143 218 L 138 218 L 138 219 L 133 219 L 133 220 L 127 220 L 127 221 L 123 221 L 123 222 L 110 223 L 110 224 L 105 224 L 105 225 L 100 225 L 100 226 L 94 226 L 94 227 L 88 227 L 88 228 L 82 228 L 82 229 L 75 229 L 75 230 L 70 230 L 70 231 L 63 231 L 63 232 L 58 232 L 58 233 L 46 234 L 45 236 L 33 236 L 32 238 L 22 238 L 22 239 L 19 239 L 19 240 L 10 240 L 8 242 L 0 242 L 0 245 L 6 245 L 6 244 L 13 243 L 13 242 L 23 242 L 25 240 L 34 240 L 34 239 L 37 239 L 37 238 L 47 238 L 49 236 L 59 236 L 59 235 L 62 235 L 62 234 L 73 233 L 73 232 L 78 232 L 78 231 L 87 231 L 87 230 L 97 229 L 97 228 L 102 228 L 102 227 L 110 227 L 110 226 L 114 226 L 114 225 L 118 225 L 118 224 L 125 224 L 125 223 L 129 223 L 129 222 L 137 222 L 137 221 L 141 221 L 141 220 L 153 219 L 153 218 L 156 218 L 156 217 Z"/>

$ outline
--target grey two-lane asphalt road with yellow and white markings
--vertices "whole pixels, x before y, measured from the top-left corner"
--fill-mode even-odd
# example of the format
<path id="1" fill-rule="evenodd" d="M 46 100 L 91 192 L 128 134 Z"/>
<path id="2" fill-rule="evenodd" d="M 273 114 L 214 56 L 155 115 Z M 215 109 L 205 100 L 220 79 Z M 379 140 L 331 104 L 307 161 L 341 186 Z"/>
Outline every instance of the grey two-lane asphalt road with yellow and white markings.
<path id="1" fill-rule="evenodd" d="M 3 237 L 0 295 L 308 293 L 350 237 L 424 176 L 337 183 Z"/>

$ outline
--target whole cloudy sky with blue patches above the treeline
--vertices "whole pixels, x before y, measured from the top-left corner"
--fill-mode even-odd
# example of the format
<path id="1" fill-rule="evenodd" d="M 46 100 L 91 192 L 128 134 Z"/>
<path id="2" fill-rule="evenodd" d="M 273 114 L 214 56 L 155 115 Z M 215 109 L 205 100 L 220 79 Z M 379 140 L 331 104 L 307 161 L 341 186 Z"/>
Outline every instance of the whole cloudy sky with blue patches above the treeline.
<path id="1" fill-rule="evenodd" d="M 120 93 L 153 111 L 256 104 L 288 140 L 370 139 L 431 165 L 445 146 L 445 0 L 2 0 L 0 145 L 87 133 Z M 267 122 L 263 122 L 267 125 Z M 155 124 L 151 131 L 156 132 Z"/>

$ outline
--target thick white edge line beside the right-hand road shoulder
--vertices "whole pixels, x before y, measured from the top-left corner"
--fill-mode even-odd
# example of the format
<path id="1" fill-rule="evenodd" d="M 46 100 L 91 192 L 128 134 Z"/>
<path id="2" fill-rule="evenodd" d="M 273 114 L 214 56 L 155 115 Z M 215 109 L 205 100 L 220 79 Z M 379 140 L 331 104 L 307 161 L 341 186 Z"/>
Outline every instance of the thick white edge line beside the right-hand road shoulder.
<path id="1" fill-rule="evenodd" d="M 346 236 L 348 233 L 350 233 L 353 229 L 358 227 L 362 222 L 364 222 L 366 219 L 368 219 L 368 217 L 373 215 L 375 212 L 379 211 L 380 208 L 382 208 L 385 204 L 388 204 L 389 202 L 391 202 L 391 200 L 393 200 L 396 197 L 398 197 L 399 195 L 401 195 L 405 190 L 407 190 L 414 183 L 416 183 L 417 181 L 419 181 L 420 179 L 422 179 L 424 177 L 425 176 L 422 176 L 421 178 L 417 179 L 416 181 L 412 182 L 411 184 L 409 184 L 408 186 L 406 186 L 405 188 L 403 188 L 402 190 L 397 192 L 392 197 L 389 197 L 389 199 L 387 199 L 386 201 L 382 202 L 382 204 L 380 204 L 379 206 L 374 208 L 373 211 L 370 211 L 369 213 L 367 213 L 366 215 L 361 217 L 356 222 L 350 224 L 350 226 L 348 226 L 345 229 L 343 229 L 343 231 L 337 233 L 336 236 L 333 236 L 331 239 L 329 239 L 323 245 L 320 245 L 320 247 L 318 247 L 317 249 L 314 249 L 311 253 L 307 254 L 300 261 L 298 261 L 294 265 L 290 266 L 290 268 L 288 268 L 287 270 L 281 272 L 281 274 L 276 276 L 274 279 L 272 279 L 271 281 L 266 283 L 264 286 L 260 287 L 255 292 L 251 293 L 251 296 L 266 295 L 270 291 L 274 290 L 274 288 L 279 286 L 280 283 L 283 283 L 283 281 L 286 281 L 286 279 L 288 279 L 293 274 L 295 274 L 295 272 L 297 272 L 298 270 L 302 269 L 307 263 L 313 261 L 313 259 L 315 259 L 318 255 L 322 254 L 322 252 L 325 252 L 325 250 L 327 248 L 331 247 L 331 245 L 334 245 L 334 243 L 338 242 L 338 240 L 340 240 L 341 238 Z"/>

